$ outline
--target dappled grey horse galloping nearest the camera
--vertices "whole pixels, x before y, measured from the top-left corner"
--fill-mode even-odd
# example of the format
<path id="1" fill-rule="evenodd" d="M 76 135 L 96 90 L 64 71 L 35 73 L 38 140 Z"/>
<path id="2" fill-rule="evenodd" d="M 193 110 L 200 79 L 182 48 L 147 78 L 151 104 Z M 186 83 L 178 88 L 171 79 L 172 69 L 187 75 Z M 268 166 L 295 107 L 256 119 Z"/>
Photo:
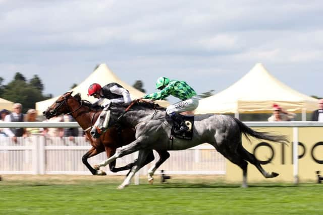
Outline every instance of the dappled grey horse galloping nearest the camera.
<path id="1" fill-rule="evenodd" d="M 144 165 L 149 152 L 153 150 L 185 150 L 203 143 L 212 145 L 224 157 L 238 165 L 243 171 L 242 187 L 247 187 L 247 161 L 253 164 L 265 178 L 273 178 L 278 173 L 266 172 L 255 156 L 242 146 L 242 134 L 248 139 L 253 136 L 259 139 L 288 143 L 285 135 L 274 135 L 268 132 L 258 132 L 239 119 L 228 115 L 205 114 L 195 116 L 193 138 L 191 140 L 174 138 L 169 139 L 172 122 L 166 115 L 165 109 L 155 109 L 151 104 L 134 101 L 129 104 L 111 104 L 109 107 L 109 126 L 116 124 L 130 125 L 135 128 L 136 140 L 129 145 L 120 148 L 116 154 L 99 164 L 105 166 L 117 158 L 139 151 L 138 159 L 130 174 L 118 187 L 123 189 L 130 184 L 131 178 Z M 128 108 L 126 108 L 128 107 Z M 149 174 L 153 174 L 154 168 Z"/>

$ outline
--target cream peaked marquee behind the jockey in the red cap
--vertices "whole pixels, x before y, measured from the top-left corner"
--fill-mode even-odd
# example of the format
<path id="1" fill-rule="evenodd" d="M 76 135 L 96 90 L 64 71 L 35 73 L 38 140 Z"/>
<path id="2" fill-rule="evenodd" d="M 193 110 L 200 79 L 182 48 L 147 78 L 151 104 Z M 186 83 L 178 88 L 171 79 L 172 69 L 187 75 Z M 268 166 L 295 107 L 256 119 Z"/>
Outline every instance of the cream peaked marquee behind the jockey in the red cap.
<path id="1" fill-rule="evenodd" d="M 145 94 L 140 92 L 139 90 L 133 88 L 132 86 L 126 84 L 125 82 L 121 81 L 107 66 L 106 64 L 100 64 L 93 73 L 85 79 L 81 84 L 79 84 L 77 87 L 73 88 L 71 91 L 73 91 L 73 95 L 76 93 L 81 94 L 81 98 L 85 99 L 90 102 L 96 101 L 93 97 L 87 96 L 87 89 L 88 87 L 93 83 L 98 83 L 101 86 L 104 86 L 106 84 L 109 84 L 111 82 L 116 82 L 123 86 L 125 89 L 127 89 L 130 93 L 131 99 L 138 99 L 144 96 Z M 55 102 L 58 97 L 47 99 L 45 101 L 37 102 L 36 103 L 36 110 L 38 114 L 41 114 L 48 106 L 50 106 L 53 102 Z M 156 101 L 161 106 L 168 106 L 169 103 L 167 101 Z"/>

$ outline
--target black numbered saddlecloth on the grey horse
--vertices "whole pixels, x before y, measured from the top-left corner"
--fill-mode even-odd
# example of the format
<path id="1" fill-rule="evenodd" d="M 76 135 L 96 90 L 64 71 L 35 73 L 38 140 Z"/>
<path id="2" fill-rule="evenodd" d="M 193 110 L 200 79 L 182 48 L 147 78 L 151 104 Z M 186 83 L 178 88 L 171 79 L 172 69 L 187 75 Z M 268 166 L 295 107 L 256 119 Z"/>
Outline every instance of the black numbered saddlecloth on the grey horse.
<path id="1" fill-rule="evenodd" d="M 178 114 L 178 116 L 181 117 L 181 119 L 182 119 L 181 123 L 185 123 L 186 126 L 188 127 L 188 130 L 183 131 L 183 132 L 175 132 L 180 129 L 181 123 L 173 123 L 173 126 L 171 128 L 170 139 L 172 139 L 173 137 L 176 137 L 176 138 L 180 138 L 180 139 L 191 140 L 193 138 L 194 116 L 187 116 L 187 115 L 184 116 L 181 114 Z"/>

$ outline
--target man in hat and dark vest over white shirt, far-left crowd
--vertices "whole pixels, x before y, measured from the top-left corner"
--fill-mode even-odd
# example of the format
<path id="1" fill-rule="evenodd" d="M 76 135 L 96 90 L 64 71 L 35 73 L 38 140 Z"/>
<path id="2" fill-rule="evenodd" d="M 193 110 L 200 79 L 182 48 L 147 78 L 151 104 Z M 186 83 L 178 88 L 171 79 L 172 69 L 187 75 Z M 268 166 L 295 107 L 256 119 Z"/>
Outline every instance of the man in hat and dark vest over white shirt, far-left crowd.
<path id="1" fill-rule="evenodd" d="M 13 112 L 5 117 L 5 122 L 23 122 L 24 114 L 21 113 L 22 105 L 15 103 L 13 106 Z M 4 132 L 12 137 L 14 142 L 17 142 L 17 137 L 23 136 L 25 133 L 24 128 L 4 128 Z"/>

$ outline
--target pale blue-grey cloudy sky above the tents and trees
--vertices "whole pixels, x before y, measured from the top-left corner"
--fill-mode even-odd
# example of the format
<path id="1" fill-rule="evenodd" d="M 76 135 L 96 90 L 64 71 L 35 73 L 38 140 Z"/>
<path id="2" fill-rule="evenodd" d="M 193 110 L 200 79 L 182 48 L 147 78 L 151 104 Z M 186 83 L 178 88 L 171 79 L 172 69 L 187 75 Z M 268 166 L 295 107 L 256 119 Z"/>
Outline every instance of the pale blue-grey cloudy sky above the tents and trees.
<path id="1" fill-rule="evenodd" d="M 38 75 L 59 96 L 99 63 L 154 92 L 160 76 L 216 93 L 257 62 L 323 96 L 322 1 L 0 0 L 0 77 Z"/>

